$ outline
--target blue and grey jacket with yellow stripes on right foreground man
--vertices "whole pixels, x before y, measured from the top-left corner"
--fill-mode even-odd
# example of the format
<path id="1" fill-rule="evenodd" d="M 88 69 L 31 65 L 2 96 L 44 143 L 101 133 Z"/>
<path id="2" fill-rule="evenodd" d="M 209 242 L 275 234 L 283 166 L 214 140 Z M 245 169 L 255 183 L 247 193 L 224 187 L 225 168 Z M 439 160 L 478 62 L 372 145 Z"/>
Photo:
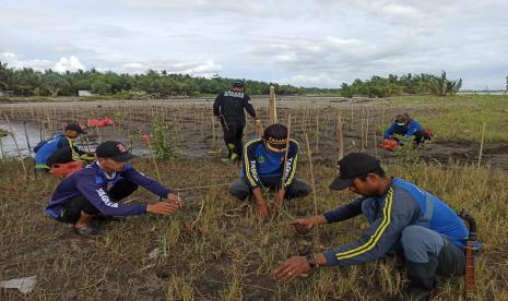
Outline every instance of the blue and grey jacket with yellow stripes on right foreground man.
<path id="1" fill-rule="evenodd" d="M 385 195 L 374 198 L 375 202 L 368 203 L 373 208 L 368 209 L 374 210 L 376 217 L 368 230 L 352 243 L 324 251 L 328 265 L 354 265 L 376 261 L 395 245 L 402 230 L 410 225 L 435 230 L 459 248 L 464 248 L 469 234 L 464 222 L 445 202 L 415 184 L 392 178 Z M 361 215 L 365 200 L 367 197 L 359 197 L 326 212 L 324 218 L 328 222 L 336 222 Z M 422 224 L 422 217 L 429 206 L 433 206 L 432 218 Z"/>

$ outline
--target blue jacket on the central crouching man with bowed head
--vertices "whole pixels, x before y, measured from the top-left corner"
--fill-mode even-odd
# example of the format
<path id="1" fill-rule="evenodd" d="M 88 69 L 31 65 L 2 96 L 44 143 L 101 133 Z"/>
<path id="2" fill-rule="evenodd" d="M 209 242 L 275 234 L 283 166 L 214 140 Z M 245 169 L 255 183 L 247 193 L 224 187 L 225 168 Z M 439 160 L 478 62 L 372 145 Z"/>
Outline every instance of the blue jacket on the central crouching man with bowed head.
<path id="1" fill-rule="evenodd" d="M 272 153 L 267 149 L 261 139 L 255 139 L 245 144 L 244 166 L 241 177 L 246 178 L 249 188 L 261 186 L 263 179 L 282 179 L 285 153 Z M 298 143 L 290 140 L 287 162 L 284 169 L 284 186 L 291 185 L 296 172 L 298 159 Z"/>

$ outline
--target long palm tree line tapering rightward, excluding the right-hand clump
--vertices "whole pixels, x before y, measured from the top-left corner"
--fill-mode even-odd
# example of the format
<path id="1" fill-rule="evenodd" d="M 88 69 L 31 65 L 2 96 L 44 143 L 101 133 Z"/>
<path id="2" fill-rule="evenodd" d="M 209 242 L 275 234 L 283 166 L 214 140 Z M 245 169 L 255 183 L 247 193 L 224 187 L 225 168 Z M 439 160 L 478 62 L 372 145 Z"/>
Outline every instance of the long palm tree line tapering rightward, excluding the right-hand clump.
<path id="1" fill-rule="evenodd" d="M 12 91 L 15 96 L 76 96 L 79 91 L 98 95 L 150 95 L 155 98 L 169 96 L 199 96 L 217 94 L 227 88 L 233 79 L 214 76 L 194 77 L 149 70 L 143 74 L 128 74 L 78 70 L 58 73 L 50 69 L 36 71 L 32 68 L 14 69 L 0 62 L 0 89 Z M 339 89 L 295 87 L 260 81 L 245 81 L 251 95 L 267 95 L 275 86 L 277 95 L 338 94 Z"/>

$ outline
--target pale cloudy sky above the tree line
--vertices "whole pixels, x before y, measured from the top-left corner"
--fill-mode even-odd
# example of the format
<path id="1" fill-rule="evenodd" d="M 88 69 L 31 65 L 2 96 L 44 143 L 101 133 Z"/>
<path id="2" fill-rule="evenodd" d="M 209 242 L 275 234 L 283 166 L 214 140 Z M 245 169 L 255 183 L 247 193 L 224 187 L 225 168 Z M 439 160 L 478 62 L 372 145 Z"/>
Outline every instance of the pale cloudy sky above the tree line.
<path id="1" fill-rule="evenodd" d="M 508 1 L 2 0 L 0 61 L 307 87 L 445 70 L 503 89 Z"/>

